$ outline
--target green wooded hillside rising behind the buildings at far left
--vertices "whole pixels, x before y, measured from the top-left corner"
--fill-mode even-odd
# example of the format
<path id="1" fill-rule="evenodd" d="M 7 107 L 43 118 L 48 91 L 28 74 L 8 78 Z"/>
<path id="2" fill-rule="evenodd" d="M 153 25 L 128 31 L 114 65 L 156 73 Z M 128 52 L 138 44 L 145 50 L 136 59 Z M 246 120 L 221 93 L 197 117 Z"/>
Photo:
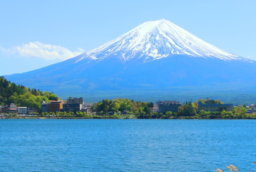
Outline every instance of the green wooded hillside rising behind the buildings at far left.
<path id="1" fill-rule="evenodd" d="M 42 101 L 58 100 L 58 96 L 48 91 L 42 92 L 36 88 L 27 88 L 23 85 L 16 85 L 0 76 L 0 105 L 14 103 L 17 106 L 26 106 L 40 109 Z"/>

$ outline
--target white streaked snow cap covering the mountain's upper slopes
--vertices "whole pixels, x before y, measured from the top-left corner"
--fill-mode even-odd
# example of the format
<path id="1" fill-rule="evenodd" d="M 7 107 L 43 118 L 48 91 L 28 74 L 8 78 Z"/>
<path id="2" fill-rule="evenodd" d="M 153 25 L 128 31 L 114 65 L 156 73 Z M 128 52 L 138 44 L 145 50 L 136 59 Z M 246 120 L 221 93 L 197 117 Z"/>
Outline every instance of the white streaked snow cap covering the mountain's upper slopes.
<path id="1" fill-rule="evenodd" d="M 148 62 L 173 54 L 251 62 L 208 44 L 164 19 L 144 22 L 126 34 L 77 56 L 76 62 L 86 58 L 102 60 L 106 57 L 116 57 L 124 61 L 136 58 Z"/>

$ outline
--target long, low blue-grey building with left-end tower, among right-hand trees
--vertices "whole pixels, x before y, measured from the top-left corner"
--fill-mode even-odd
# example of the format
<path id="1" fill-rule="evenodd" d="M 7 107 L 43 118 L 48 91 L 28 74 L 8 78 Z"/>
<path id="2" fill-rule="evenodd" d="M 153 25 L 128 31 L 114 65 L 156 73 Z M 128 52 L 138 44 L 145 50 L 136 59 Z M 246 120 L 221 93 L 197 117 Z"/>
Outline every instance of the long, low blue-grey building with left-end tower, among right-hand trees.
<path id="1" fill-rule="evenodd" d="M 202 101 L 198 102 L 198 111 L 204 110 L 206 112 L 218 112 L 218 109 L 223 107 L 226 111 L 233 110 L 233 104 L 203 104 Z"/>

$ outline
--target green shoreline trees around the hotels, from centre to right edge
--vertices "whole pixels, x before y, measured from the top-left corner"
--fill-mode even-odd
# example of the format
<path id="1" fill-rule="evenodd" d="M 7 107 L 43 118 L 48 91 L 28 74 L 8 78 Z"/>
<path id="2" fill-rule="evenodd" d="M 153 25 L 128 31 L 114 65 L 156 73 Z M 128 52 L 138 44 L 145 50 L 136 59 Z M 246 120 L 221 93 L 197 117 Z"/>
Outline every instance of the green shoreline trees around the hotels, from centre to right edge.
<path id="1" fill-rule="evenodd" d="M 152 112 L 154 103 L 135 102 L 127 98 L 117 98 L 114 100 L 102 100 L 92 106 L 93 112 L 98 115 L 108 116 L 110 112 L 118 114 L 119 112 L 129 111 L 128 114 L 134 115 L 138 119 L 256 119 L 256 114 L 248 114 L 245 106 L 234 107 L 232 111 L 226 111 L 224 107 L 218 108 L 218 112 L 198 112 L 198 102 L 204 104 L 223 104 L 220 100 L 199 99 L 196 102 L 184 102 L 178 112 L 168 111 L 166 113 Z"/>

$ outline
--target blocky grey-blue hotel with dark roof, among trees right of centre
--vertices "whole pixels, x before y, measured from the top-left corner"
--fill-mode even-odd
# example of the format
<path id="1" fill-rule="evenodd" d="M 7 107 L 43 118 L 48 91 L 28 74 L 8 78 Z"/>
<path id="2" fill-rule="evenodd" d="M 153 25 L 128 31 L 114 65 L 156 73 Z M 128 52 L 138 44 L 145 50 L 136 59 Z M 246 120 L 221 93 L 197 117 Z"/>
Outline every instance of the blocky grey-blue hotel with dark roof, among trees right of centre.
<path id="1" fill-rule="evenodd" d="M 163 101 L 158 102 L 158 112 L 166 113 L 168 111 L 178 112 L 178 108 L 181 106 L 180 102 L 177 101 Z"/>

